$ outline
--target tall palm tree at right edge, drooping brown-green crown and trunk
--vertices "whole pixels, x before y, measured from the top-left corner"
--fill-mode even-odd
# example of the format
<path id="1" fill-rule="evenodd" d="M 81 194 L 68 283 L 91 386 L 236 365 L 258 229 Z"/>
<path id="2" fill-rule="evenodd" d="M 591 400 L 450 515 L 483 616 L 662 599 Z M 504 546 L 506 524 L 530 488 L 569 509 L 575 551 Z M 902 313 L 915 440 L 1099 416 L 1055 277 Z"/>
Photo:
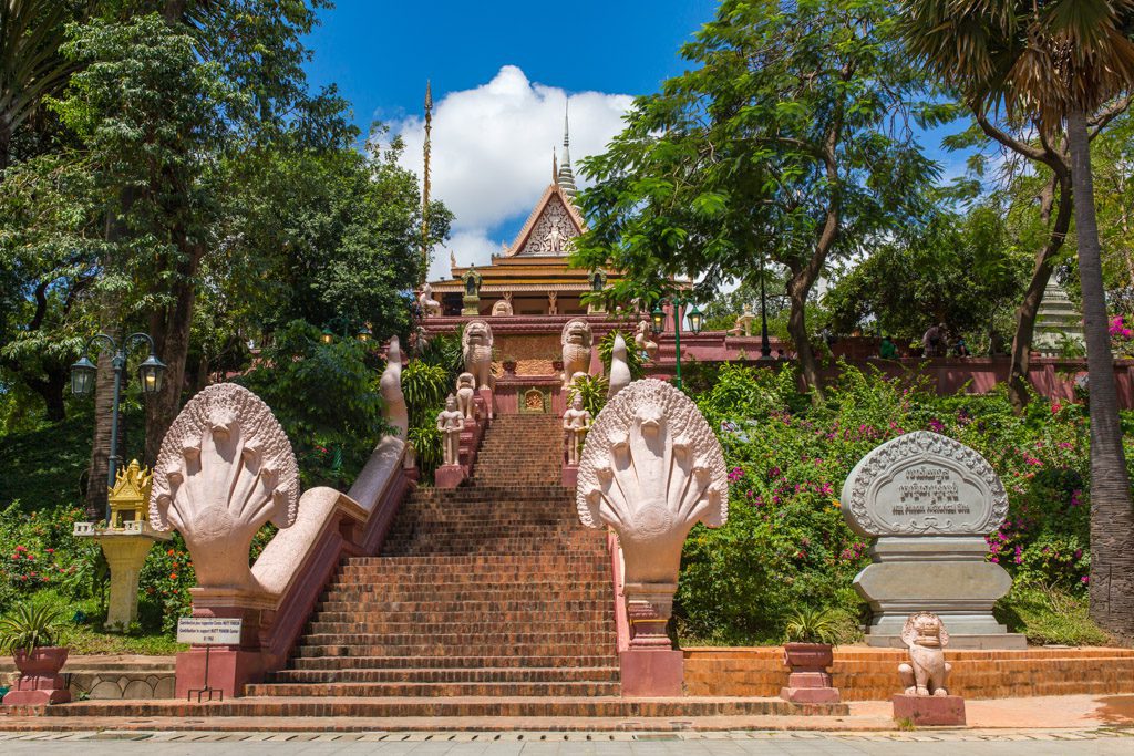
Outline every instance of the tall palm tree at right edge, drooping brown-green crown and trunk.
<path id="1" fill-rule="evenodd" d="M 1091 390 L 1091 617 L 1134 637 L 1134 507 L 1107 331 L 1088 114 L 1134 85 L 1134 0 L 905 0 L 911 52 L 979 113 L 1066 129 Z"/>

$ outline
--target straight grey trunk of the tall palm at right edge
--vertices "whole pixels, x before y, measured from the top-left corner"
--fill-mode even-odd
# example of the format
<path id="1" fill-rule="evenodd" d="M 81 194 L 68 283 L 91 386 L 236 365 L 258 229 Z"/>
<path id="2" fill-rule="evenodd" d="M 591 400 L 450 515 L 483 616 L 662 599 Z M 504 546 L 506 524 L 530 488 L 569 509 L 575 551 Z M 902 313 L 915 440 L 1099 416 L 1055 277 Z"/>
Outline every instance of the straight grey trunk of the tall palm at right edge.
<path id="1" fill-rule="evenodd" d="M 1067 138 L 1091 405 L 1091 619 L 1111 632 L 1131 638 L 1134 637 L 1134 506 L 1107 328 L 1091 146 L 1082 111 L 1068 113 Z"/>

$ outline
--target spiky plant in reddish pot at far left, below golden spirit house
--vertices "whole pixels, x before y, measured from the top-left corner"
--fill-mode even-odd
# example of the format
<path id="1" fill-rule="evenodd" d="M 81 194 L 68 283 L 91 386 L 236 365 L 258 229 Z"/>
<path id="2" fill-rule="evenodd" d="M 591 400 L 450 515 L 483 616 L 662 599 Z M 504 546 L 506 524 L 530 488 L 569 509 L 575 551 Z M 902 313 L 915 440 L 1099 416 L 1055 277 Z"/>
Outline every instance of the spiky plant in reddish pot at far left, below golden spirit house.
<path id="1" fill-rule="evenodd" d="M 56 645 L 64 627 L 62 610 L 46 604 L 20 604 L 0 619 L 0 652 L 10 653 L 19 680 L 5 704 L 61 704 L 70 700 L 59 670 L 67 663 L 66 646 Z"/>

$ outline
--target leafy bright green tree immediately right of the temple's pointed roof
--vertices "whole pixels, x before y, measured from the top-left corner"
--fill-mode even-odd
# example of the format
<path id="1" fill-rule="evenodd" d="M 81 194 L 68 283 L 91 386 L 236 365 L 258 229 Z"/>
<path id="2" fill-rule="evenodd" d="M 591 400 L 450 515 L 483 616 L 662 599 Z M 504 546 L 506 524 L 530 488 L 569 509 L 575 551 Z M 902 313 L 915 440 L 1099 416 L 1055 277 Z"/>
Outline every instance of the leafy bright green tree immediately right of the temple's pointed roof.
<path id="1" fill-rule="evenodd" d="M 761 257 L 790 273 L 789 330 L 819 396 L 805 320 L 833 256 L 917 224 L 936 165 L 909 120 L 921 79 L 881 0 L 723 2 L 682 49 L 695 68 L 640 97 L 606 154 L 584 161 L 591 231 L 575 264 L 628 273 L 612 296 L 649 297 L 667 278 L 710 294 L 747 281 Z"/>

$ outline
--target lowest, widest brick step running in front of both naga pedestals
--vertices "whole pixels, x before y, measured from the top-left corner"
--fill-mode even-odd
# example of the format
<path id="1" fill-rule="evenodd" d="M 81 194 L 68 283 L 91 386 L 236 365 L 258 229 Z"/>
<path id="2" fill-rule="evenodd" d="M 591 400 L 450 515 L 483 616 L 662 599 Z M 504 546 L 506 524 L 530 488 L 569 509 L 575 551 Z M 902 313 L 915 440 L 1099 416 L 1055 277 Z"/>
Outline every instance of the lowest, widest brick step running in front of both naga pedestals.
<path id="1" fill-rule="evenodd" d="M 577 716 L 678 717 L 815 714 L 846 716 L 846 704 L 790 704 L 778 698 L 618 697 L 272 697 L 203 704 L 179 699 L 74 702 L 48 706 L 44 716 Z"/>

